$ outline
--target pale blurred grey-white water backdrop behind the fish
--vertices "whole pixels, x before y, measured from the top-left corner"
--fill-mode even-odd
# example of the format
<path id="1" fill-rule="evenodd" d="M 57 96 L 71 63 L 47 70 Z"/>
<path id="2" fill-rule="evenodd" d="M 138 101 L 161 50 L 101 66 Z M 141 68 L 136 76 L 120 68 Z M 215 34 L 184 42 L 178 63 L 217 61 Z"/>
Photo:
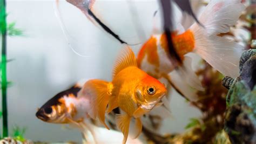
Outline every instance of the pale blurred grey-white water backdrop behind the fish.
<path id="1" fill-rule="evenodd" d="M 140 43 L 131 46 L 136 54 L 154 25 L 159 26 L 159 18 L 153 18 L 156 10 L 159 5 L 153 0 L 105 0 L 94 6 L 96 15 L 120 38 L 129 44 Z M 24 127 L 25 138 L 33 141 L 81 140 L 77 129 L 37 119 L 37 108 L 81 79 L 111 80 L 113 61 L 124 47 L 75 6 L 60 1 L 59 11 L 56 16 L 55 1 L 7 1 L 8 23 L 15 22 L 23 31 L 22 36 L 8 37 L 8 59 L 14 59 L 7 70 L 12 81 L 8 88 L 10 134 L 12 127 Z M 170 95 L 173 118 L 165 120 L 161 132 L 183 132 L 189 119 L 201 114 L 176 92 Z"/>

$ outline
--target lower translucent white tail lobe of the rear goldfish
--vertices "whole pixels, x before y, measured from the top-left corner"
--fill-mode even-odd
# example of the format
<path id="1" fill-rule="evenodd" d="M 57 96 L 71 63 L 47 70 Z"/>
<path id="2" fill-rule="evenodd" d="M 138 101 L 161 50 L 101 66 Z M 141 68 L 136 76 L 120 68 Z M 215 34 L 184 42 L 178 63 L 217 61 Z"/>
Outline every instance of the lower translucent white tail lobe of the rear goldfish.
<path id="1" fill-rule="evenodd" d="M 239 76 L 239 60 L 243 46 L 224 37 L 208 36 L 197 24 L 192 25 L 191 31 L 196 41 L 195 53 L 224 76 Z"/>

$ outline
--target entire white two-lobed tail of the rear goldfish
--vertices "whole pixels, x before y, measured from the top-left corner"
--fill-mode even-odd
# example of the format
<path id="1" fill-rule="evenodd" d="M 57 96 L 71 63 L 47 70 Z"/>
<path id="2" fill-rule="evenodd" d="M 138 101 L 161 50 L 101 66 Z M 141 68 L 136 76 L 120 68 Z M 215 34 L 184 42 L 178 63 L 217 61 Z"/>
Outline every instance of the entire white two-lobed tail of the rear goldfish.
<path id="1" fill-rule="evenodd" d="M 218 35 L 229 32 L 230 26 L 236 24 L 244 9 L 240 0 L 213 0 L 199 17 L 204 28 L 197 23 L 190 28 L 196 44 L 194 52 L 219 72 L 232 78 L 239 76 L 242 46 Z"/>

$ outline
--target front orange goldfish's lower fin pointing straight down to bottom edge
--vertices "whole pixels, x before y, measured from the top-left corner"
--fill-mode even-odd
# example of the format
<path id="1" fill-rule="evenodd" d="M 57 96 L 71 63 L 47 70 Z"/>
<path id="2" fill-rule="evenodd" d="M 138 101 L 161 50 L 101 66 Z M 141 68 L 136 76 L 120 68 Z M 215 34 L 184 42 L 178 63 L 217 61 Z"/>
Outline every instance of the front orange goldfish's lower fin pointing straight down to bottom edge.
<path id="1" fill-rule="evenodd" d="M 116 115 L 117 127 L 120 129 L 120 131 L 124 135 L 123 143 L 125 143 L 128 138 L 130 121 L 131 121 L 131 116 L 129 116 L 127 114 L 117 114 Z"/>

